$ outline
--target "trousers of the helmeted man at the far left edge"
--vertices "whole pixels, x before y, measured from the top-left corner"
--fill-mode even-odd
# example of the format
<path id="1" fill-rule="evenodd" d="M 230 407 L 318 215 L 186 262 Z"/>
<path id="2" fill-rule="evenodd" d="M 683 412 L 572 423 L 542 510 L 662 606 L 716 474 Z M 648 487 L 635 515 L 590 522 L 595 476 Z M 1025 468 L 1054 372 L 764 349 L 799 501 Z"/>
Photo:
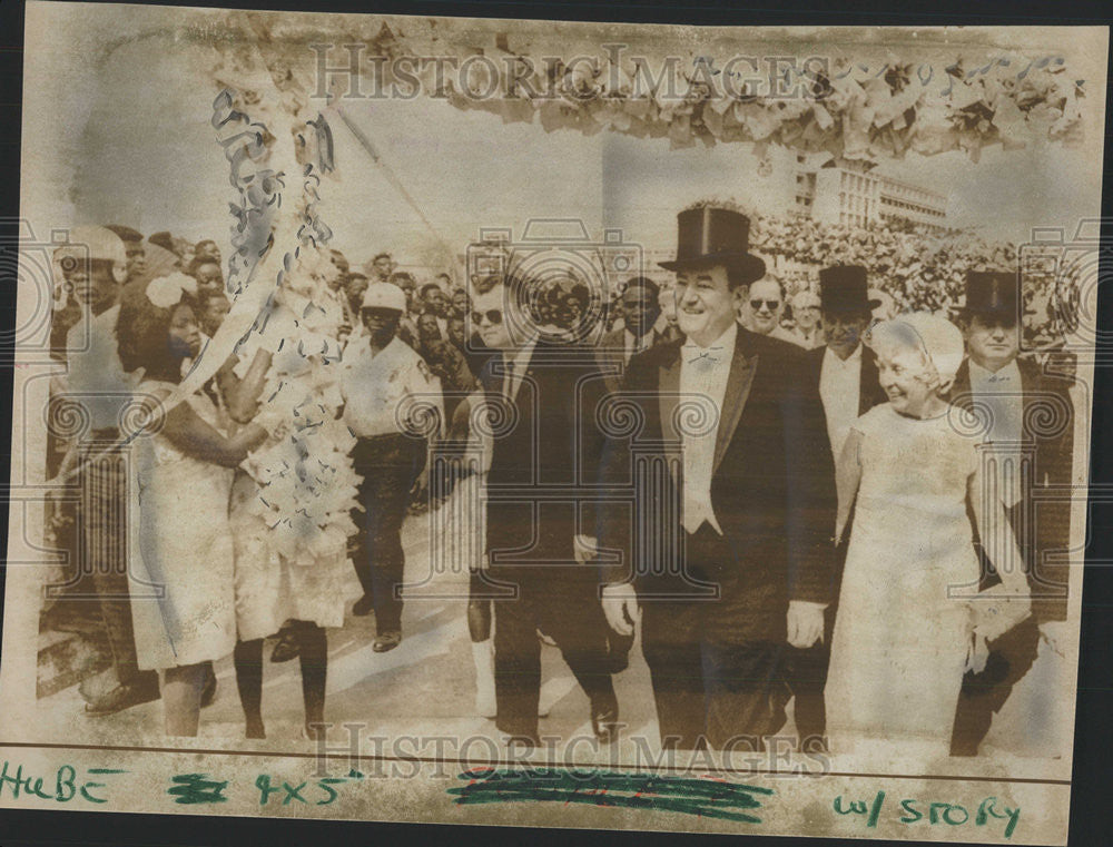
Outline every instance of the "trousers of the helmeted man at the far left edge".
<path id="1" fill-rule="evenodd" d="M 83 445 L 81 472 L 82 573 L 92 577 L 105 620 L 116 677 L 121 686 L 158 686 L 154 671 L 141 672 L 136 658 L 128 589 L 128 459 L 117 451 L 104 452 L 115 441 L 114 432 L 96 433 L 97 441 Z"/>

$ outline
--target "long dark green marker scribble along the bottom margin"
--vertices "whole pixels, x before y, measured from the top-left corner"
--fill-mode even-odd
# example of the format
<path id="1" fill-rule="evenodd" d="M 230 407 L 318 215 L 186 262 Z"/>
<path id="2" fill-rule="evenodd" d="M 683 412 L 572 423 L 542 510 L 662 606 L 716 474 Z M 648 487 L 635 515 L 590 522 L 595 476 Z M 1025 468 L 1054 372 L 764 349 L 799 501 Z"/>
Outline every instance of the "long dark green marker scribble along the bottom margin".
<path id="1" fill-rule="evenodd" d="M 760 824 L 749 811 L 761 808 L 771 788 L 712 779 L 610 771 L 575 772 L 556 768 L 493 770 L 474 768 L 461 774 L 465 786 L 449 788 L 462 806 L 487 802 L 579 802 L 612 808 L 652 809 L 699 815 L 743 824 Z"/>

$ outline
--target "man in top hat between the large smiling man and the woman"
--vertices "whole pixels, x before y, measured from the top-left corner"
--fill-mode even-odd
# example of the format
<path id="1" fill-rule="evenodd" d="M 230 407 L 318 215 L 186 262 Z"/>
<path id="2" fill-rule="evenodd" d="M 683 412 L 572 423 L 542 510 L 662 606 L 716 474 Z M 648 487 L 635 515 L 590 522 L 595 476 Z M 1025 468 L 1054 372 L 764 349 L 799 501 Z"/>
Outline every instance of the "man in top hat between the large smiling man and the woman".
<path id="1" fill-rule="evenodd" d="M 823 402 L 827 443 L 837 464 L 851 424 L 876 405 L 886 402 L 873 355 L 863 348 L 861 334 L 869 326 L 873 309 L 880 301 L 870 299 L 866 268 L 836 265 L 819 272 L 819 307 L 826 344 L 808 351 L 809 378 Z M 824 613 L 824 637 L 806 650 L 789 648 L 789 686 L 795 696 L 794 716 L 800 745 L 805 749 L 826 747 L 827 728 L 824 686 L 830 662 L 830 640 L 846 545 L 835 553 L 830 604 Z"/>

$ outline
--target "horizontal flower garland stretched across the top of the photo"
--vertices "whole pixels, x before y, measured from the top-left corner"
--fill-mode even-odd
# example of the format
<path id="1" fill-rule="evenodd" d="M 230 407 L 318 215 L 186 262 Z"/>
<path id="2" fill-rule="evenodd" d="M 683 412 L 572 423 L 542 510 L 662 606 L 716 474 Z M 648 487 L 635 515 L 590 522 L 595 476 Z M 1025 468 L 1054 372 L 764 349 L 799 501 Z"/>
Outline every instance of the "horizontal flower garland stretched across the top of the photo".
<path id="1" fill-rule="evenodd" d="M 342 97 L 432 96 L 498 114 L 504 122 L 536 120 L 550 132 L 609 129 L 668 138 L 673 148 L 776 142 L 850 159 L 961 149 L 977 160 L 988 145 L 1082 137 L 1085 81 L 1062 56 L 988 47 L 956 56 L 954 48 L 928 51 L 909 41 L 909 56 L 929 52 L 932 60 L 892 52 L 864 59 L 840 56 L 835 31 L 825 47 L 834 58 L 806 59 L 800 48 L 787 47 L 786 55 L 801 53 L 800 61 L 766 68 L 757 59 L 739 62 L 756 46 L 723 38 L 721 30 L 708 30 L 716 38 L 703 43 L 691 28 L 667 38 L 618 24 L 594 31 L 555 22 L 523 21 L 513 31 L 498 26 L 351 18 L 342 37 L 322 33 L 318 41 L 359 48 L 358 90 L 353 95 L 343 75 L 325 73 L 324 82 Z M 305 41 L 304 31 L 287 35 Z M 622 49 L 612 42 L 623 42 Z M 949 60 L 939 60 L 948 53 Z M 352 55 L 336 47 L 327 57 L 312 56 L 316 66 L 302 71 L 307 90 L 322 85 L 321 59 L 332 67 Z"/>

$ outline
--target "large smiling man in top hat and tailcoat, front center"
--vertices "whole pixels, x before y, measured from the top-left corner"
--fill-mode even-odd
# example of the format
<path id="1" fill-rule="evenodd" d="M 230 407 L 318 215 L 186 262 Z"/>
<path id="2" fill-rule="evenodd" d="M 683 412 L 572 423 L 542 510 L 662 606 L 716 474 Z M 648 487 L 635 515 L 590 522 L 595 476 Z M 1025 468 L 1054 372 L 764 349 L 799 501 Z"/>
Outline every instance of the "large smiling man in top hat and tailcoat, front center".
<path id="1" fill-rule="evenodd" d="M 610 433 L 601 474 L 621 485 L 658 467 L 657 495 L 600 508 L 603 610 L 619 633 L 641 620 L 664 747 L 761 749 L 784 723 L 788 644 L 823 632 L 834 466 L 804 352 L 736 321 L 765 274 L 749 219 L 700 206 L 678 229 L 662 267 L 686 339 L 630 360 L 621 395 L 639 426 Z"/>

